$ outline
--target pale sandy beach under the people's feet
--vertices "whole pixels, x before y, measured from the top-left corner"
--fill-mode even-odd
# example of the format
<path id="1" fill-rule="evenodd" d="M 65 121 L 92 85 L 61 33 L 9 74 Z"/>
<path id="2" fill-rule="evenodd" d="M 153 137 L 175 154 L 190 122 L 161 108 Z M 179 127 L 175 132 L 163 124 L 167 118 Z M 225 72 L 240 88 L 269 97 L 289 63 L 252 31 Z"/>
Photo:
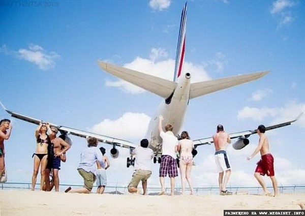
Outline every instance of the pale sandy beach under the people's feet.
<path id="1" fill-rule="evenodd" d="M 224 209 L 300 210 L 304 194 L 142 196 L 0 191 L 1 216 L 17 215 L 223 215 Z"/>

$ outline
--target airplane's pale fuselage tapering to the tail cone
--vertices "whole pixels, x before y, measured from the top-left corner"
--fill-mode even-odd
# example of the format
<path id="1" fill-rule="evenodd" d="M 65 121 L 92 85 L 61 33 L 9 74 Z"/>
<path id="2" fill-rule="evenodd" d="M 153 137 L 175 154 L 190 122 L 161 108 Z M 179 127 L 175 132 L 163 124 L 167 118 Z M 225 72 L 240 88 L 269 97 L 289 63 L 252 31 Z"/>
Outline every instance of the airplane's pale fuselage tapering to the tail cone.
<path id="1" fill-rule="evenodd" d="M 156 154 L 160 155 L 162 153 L 159 116 L 162 115 L 164 117 L 163 128 L 165 124 L 171 124 L 173 126 L 174 135 L 178 135 L 189 104 L 190 86 L 191 75 L 186 73 L 185 76 L 182 76 L 179 79 L 173 94 L 169 98 L 162 100 L 157 112 L 151 118 L 146 132 L 146 138 L 149 140 L 149 147 L 153 149 Z"/>

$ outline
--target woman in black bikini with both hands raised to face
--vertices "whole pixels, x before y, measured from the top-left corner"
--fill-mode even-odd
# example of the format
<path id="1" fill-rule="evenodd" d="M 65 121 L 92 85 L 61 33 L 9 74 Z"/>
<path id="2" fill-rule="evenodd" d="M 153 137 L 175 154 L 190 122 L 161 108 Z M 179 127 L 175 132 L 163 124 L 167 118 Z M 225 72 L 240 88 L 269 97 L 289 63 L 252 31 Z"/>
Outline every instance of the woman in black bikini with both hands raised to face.
<path id="1" fill-rule="evenodd" d="M 48 160 L 48 145 L 51 143 L 47 131 L 50 130 L 48 123 L 40 123 L 35 131 L 35 137 L 37 140 L 36 151 L 33 154 L 34 157 L 34 171 L 32 176 L 32 191 L 35 190 L 35 184 L 37 180 L 37 174 L 40 166 L 40 190 L 43 190 L 43 184 L 45 182 L 45 170 Z"/>

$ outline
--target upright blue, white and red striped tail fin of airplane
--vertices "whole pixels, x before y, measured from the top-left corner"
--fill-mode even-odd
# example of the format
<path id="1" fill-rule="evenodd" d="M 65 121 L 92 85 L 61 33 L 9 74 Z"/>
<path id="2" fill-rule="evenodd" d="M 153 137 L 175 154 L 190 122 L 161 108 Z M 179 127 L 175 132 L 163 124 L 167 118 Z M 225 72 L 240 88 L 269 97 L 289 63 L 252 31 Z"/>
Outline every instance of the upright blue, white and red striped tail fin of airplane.
<path id="1" fill-rule="evenodd" d="M 186 29 L 187 29 L 187 2 L 184 8 L 182 9 L 182 13 L 181 13 L 179 37 L 178 37 L 176 60 L 175 60 L 174 82 L 176 82 L 176 79 L 180 76 L 182 70 L 182 65 L 185 55 L 185 47 L 186 47 Z"/>

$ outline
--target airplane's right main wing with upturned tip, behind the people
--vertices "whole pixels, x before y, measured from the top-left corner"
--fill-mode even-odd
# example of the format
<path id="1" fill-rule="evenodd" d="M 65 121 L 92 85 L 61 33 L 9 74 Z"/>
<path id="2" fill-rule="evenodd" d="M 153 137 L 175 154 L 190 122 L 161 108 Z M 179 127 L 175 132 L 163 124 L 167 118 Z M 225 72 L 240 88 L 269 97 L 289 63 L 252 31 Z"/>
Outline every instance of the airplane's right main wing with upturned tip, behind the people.
<path id="1" fill-rule="evenodd" d="M 282 128 L 282 127 L 285 127 L 285 126 L 289 126 L 289 125 L 291 125 L 291 123 L 298 120 L 302 114 L 303 114 L 303 112 L 301 112 L 294 120 L 283 122 L 283 123 L 277 124 L 277 125 L 268 126 L 268 127 L 266 127 L 266 131 L 277 129 L 277 128 Z M 250 137 L 250 135 L 256 134 L 256 133 L 257 133 L 256 129 L 248 130 L 248 131 L 241 131 L 241 132 L 237 132 L 237 133 L 231 133 L 230 138 L 231 139 L 236 139 L 236 138 L 247 139 L 248 137 Z M 213 141 L 212 137 L 208 137 L 208 138 L 203 138 L 203 139 L 195 139 L 195 140 L 193 140 L 193 143 L 194 143 L 194 146 L 196 148 L 199 145 L 206 145 L 206 144 L 210 145 L 210 144 L 214 143 L 214 141 Z M 249 143 L 249 140 L 248 140 L 248 143 Z M 242 147 L 245 147 L 245 145 L 242 145 Z M 240 148 L 242 148 L 242 147 L 240 147 Z M 240 149 L 240 148 L 237 147 L 235 149 Z"/>

